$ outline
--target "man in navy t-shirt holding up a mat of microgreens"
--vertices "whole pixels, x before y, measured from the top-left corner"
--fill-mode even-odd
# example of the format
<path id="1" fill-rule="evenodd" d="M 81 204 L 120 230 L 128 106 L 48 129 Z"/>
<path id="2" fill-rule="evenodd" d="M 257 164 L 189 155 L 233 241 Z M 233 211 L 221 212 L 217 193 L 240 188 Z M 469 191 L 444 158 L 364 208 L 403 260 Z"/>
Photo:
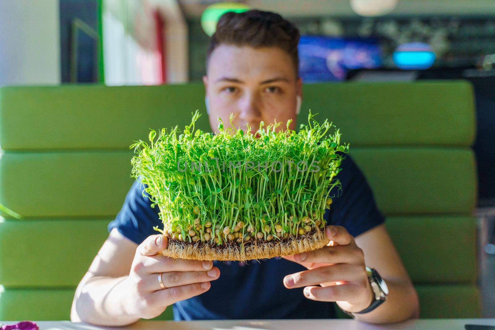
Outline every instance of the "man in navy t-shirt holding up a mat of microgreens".
<path id="1" fill-rule="evenodd" d="M 302 97 L 298 40 L 297 29 L 274 13 L 229 12 L 220 18 L 203 78 L 214 131 L 217 117 L 228 123 L 231 112 L 242 128 L 275 119 L 295 123 Z M 370 323 L 418 317 L 416 291 L 364 176 L 349 157 L 342 168 L 342 195 L 326 214 L 326 235 L 334 244 L 247 264 L 159 254 L 167 238 L 153 235 L 152 227 L 161 225 L 158 210 L 136 182 L 77 288 L 72 321 L 128 325 L 172 304 L 176 320 L 334 318 L 331 301 L 350 313 L 366 312 L 353 316 Z M 376 286 L 365 266 L 388 285 L 384 303 L 374 303 Z"/>

